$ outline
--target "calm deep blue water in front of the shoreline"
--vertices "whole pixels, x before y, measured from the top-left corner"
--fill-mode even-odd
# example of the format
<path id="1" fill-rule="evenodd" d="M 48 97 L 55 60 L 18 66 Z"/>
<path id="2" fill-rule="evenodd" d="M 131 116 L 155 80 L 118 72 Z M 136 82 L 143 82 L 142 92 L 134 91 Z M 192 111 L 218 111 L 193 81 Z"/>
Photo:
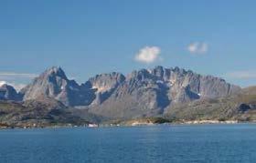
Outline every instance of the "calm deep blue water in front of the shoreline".
<path id="1" fill-rule="evenodd" d="M 0 162 L 255 162 L 256 125 L 0 130 Z"/>

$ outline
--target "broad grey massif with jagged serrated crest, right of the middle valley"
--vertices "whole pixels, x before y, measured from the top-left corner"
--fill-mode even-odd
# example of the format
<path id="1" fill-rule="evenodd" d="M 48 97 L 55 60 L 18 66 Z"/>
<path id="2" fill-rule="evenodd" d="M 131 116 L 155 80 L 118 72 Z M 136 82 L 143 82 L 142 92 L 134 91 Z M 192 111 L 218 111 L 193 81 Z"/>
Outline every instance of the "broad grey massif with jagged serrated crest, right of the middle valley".
<path id="1" fill-rule="evenodd" d="M 106 117 L 151 117 L 163 114 L 168 106 L 199 98 L 226 97 L 239 91 L 240 87 L 218 77 L 156 66 L 133 71 L 91 111 Z"/>

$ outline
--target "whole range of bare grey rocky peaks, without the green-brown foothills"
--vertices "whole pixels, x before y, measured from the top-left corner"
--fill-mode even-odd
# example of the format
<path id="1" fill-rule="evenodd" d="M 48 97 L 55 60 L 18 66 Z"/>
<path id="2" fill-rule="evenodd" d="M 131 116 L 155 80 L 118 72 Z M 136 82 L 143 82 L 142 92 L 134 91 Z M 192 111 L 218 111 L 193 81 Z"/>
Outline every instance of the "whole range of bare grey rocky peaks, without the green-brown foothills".
<path id="1" fill-rule="evenodd" d="M 23 105 L 27 101 L 50 99 L 58 101 L 63 110 L 72 108 L 80 114 L 129 119 L 170 116 L 180 106 L 235 97 L 242 91 L 222 78 L 202 76 L 179 67 L 155 66 L 135 70 L 127 76 L 118 72 L 100 74 L 78 84 L 62 68 L 53 66 L 19 92 L 14 87 L 1 86 L 0 100 Z"/>

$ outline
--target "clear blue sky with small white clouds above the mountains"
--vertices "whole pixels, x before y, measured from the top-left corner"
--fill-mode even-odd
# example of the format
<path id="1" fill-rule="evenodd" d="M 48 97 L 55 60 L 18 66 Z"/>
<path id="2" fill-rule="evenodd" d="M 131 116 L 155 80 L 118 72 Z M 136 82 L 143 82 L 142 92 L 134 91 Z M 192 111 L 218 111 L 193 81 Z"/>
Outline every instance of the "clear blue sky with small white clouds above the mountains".
<path id="1" fill-rule="evenodd" d="M 0 81 L 25 84 L 49 66 L 79 82 L 112 71 L 180 66 L 256 84 L 256 2 L 0 2 Z"/>

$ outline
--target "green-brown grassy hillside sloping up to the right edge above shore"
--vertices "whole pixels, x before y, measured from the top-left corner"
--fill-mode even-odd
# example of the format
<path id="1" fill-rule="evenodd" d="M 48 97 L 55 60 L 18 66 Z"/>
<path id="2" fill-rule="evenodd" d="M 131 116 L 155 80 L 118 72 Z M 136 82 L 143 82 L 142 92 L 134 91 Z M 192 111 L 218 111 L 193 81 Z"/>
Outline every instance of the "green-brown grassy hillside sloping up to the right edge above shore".
<path id="1" fill-rule="evenodd" d="M 255 87 L 245 88 L 240 94 L 216 99 L 200 99 L 167 108 L 170 120 L 256 120 Z"/>

